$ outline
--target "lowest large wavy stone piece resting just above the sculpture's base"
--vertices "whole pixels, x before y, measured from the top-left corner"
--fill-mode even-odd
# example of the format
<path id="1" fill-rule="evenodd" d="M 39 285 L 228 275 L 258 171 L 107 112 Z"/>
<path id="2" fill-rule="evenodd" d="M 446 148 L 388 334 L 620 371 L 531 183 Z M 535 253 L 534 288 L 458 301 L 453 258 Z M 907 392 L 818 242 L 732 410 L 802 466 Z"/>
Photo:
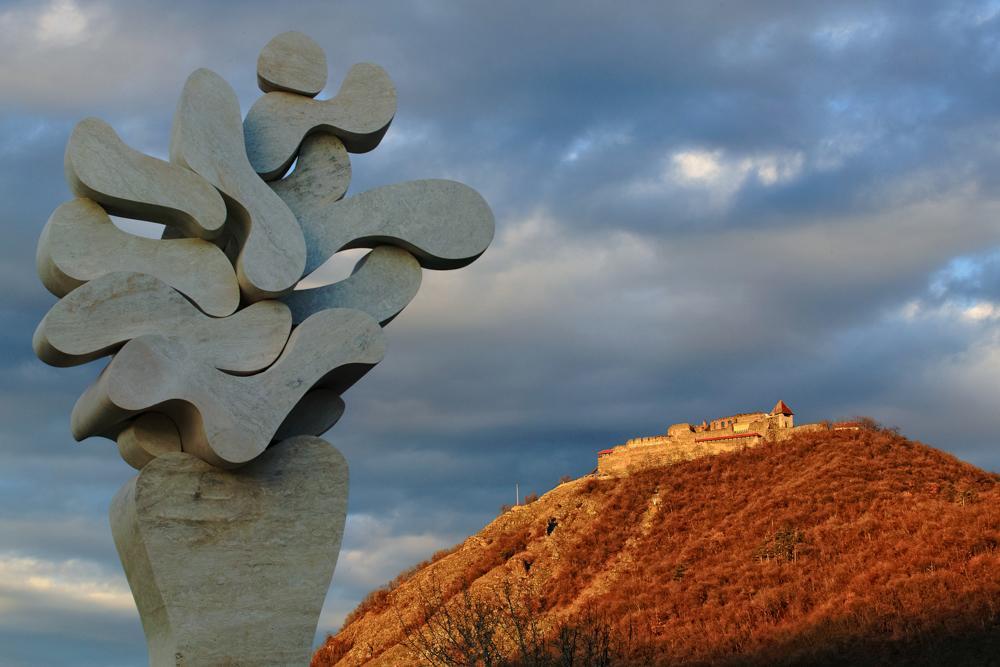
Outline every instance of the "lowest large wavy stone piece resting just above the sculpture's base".
<path id="1" fill-rule="evenodd" d="M 182 341 L 140 336 L 115 355 L 73 407 L 77 440 L 113 435 L 144 412 L 177 423 L 184 451 L 234 468 L 260 456 L 314 387 L 344 391 L 382 360 L 378 322 L 359 310 L 323 310 L 292 332 L 262 373 L 238 377 L 191 354 Z"/>

